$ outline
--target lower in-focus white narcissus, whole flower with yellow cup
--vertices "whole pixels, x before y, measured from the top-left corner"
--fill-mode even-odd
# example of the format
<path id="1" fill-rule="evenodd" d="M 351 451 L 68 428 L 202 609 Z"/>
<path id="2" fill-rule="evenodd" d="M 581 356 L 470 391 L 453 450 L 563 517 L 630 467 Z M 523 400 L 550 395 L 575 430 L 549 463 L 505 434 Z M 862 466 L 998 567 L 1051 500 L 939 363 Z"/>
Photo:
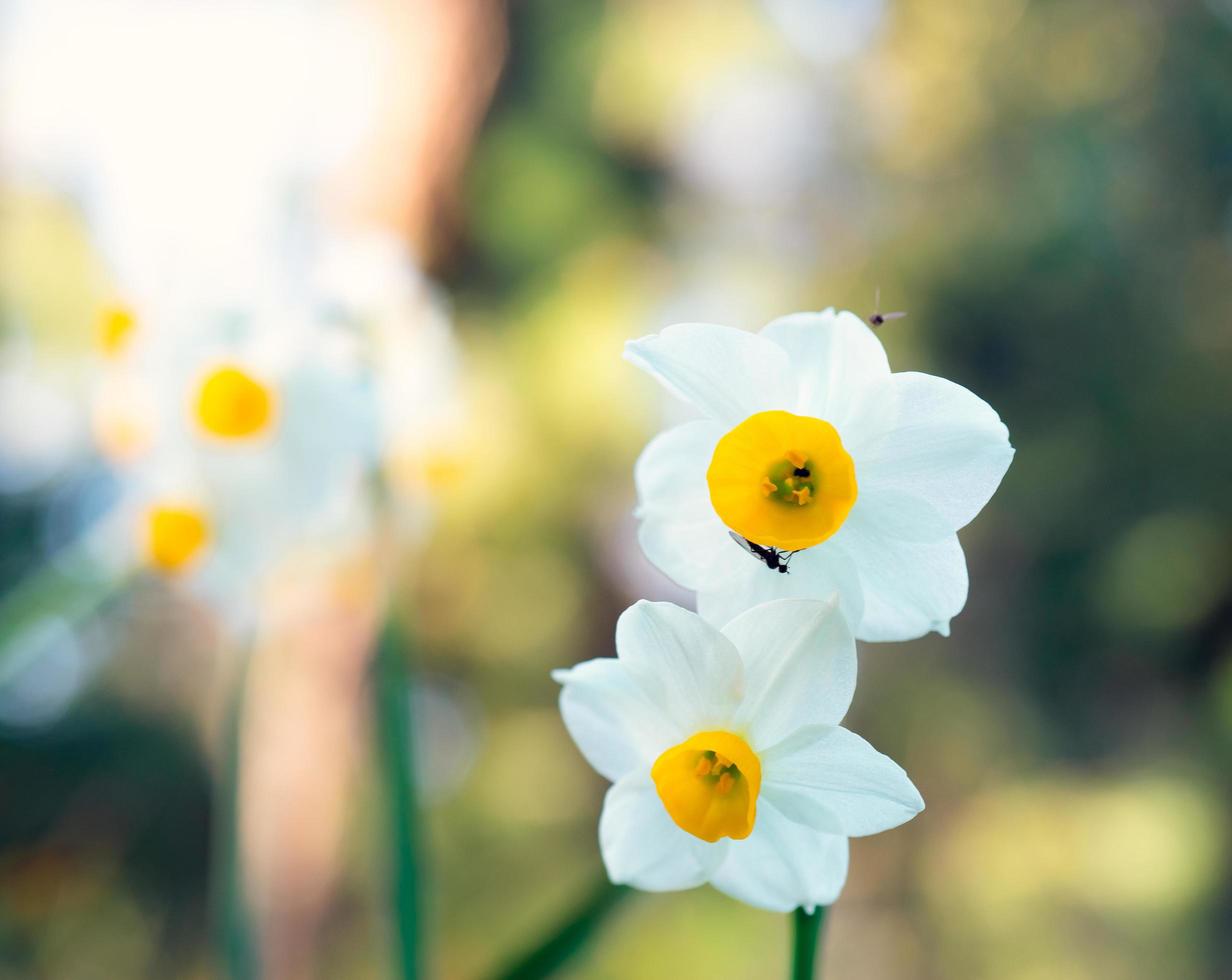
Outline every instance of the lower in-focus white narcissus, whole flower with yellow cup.
<path id="1" fill-rule="evenodd" d="M 553 673 L 565 727 L 614 784 L 599 820 L 612 881 L 710 883 L 761 909 L 811 910 L 838 897 L 848 837 L 924 809 L 896 763 L 839 727 L 856 659 L 837 602 L 779 599 L 722 631 L 639 602 L 616 652 Z"/>

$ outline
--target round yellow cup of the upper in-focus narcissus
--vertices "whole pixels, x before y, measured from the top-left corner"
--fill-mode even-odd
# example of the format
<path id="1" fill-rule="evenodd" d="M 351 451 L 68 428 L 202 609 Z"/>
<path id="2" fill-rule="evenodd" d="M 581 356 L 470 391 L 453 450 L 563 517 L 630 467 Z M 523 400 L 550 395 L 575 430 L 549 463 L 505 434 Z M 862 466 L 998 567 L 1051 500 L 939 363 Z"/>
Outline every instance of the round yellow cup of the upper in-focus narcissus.
<path id="1" fill-rule="evenodd" d="M 706 482 L 728 528 L 786 551 L 834 534 L 856 498 L 855 465 L 834 427 L 790 412 L 749 415 L 719 439 Z"/>

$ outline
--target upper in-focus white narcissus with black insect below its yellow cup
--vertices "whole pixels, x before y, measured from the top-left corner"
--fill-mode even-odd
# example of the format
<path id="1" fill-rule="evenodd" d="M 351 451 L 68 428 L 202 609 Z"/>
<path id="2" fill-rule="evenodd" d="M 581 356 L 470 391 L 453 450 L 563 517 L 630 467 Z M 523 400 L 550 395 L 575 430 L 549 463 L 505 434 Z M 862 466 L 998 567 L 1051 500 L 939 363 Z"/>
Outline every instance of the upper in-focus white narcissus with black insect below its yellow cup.
<path id="1" fill-rule="evenodd" d="M 891 374 L 876 334 L 833 309 L 760 334 L 681 323 L 626 357 L 703 414 L 652 440 L 636 480 L 643 550 L 707 620 L 838 592 L 860 640 L 949 634 L 967 599 L 956 531 L 1014 455 L 986 402 Z M 733 534 L 796 552 L 788 573 Z"/>

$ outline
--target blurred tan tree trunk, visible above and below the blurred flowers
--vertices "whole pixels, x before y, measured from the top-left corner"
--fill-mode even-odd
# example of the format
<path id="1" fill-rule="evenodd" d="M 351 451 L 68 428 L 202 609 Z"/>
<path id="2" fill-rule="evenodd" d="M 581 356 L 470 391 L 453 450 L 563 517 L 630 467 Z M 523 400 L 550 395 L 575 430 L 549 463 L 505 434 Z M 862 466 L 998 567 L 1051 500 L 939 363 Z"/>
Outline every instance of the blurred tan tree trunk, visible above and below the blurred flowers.
<path id="1" fill-rule="evenodd" d="M 389 48 L 373 131 L 324 187 L 341 233 L 383 232 L 431 267 L 505 51 L 501 0 L 356 0 Z M 241 852 L 264 975 L 315 974 L 366 751 L 378 567 L 299 567 L 262 610 L 240 775 Z M 361 562 L 362 566 L 362 562 Z M 363 583 L 365 574 L 368 579 Z"/>

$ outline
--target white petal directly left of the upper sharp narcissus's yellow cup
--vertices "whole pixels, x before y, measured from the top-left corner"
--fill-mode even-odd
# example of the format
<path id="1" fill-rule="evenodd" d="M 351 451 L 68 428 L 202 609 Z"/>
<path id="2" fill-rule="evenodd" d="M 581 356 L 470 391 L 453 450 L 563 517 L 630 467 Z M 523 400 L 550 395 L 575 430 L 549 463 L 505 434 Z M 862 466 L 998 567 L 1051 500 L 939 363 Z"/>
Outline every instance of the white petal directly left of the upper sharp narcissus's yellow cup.
<path id="1" fill-rule="evenodd" d="M 705 419 L 668 429 L 650 440 L 633 468 L 642 550 L 687 589 L 731 574 L 719 557 L 732 542 L 706 484 L 706 468 L 722 434 L 722 427 Z"/>

